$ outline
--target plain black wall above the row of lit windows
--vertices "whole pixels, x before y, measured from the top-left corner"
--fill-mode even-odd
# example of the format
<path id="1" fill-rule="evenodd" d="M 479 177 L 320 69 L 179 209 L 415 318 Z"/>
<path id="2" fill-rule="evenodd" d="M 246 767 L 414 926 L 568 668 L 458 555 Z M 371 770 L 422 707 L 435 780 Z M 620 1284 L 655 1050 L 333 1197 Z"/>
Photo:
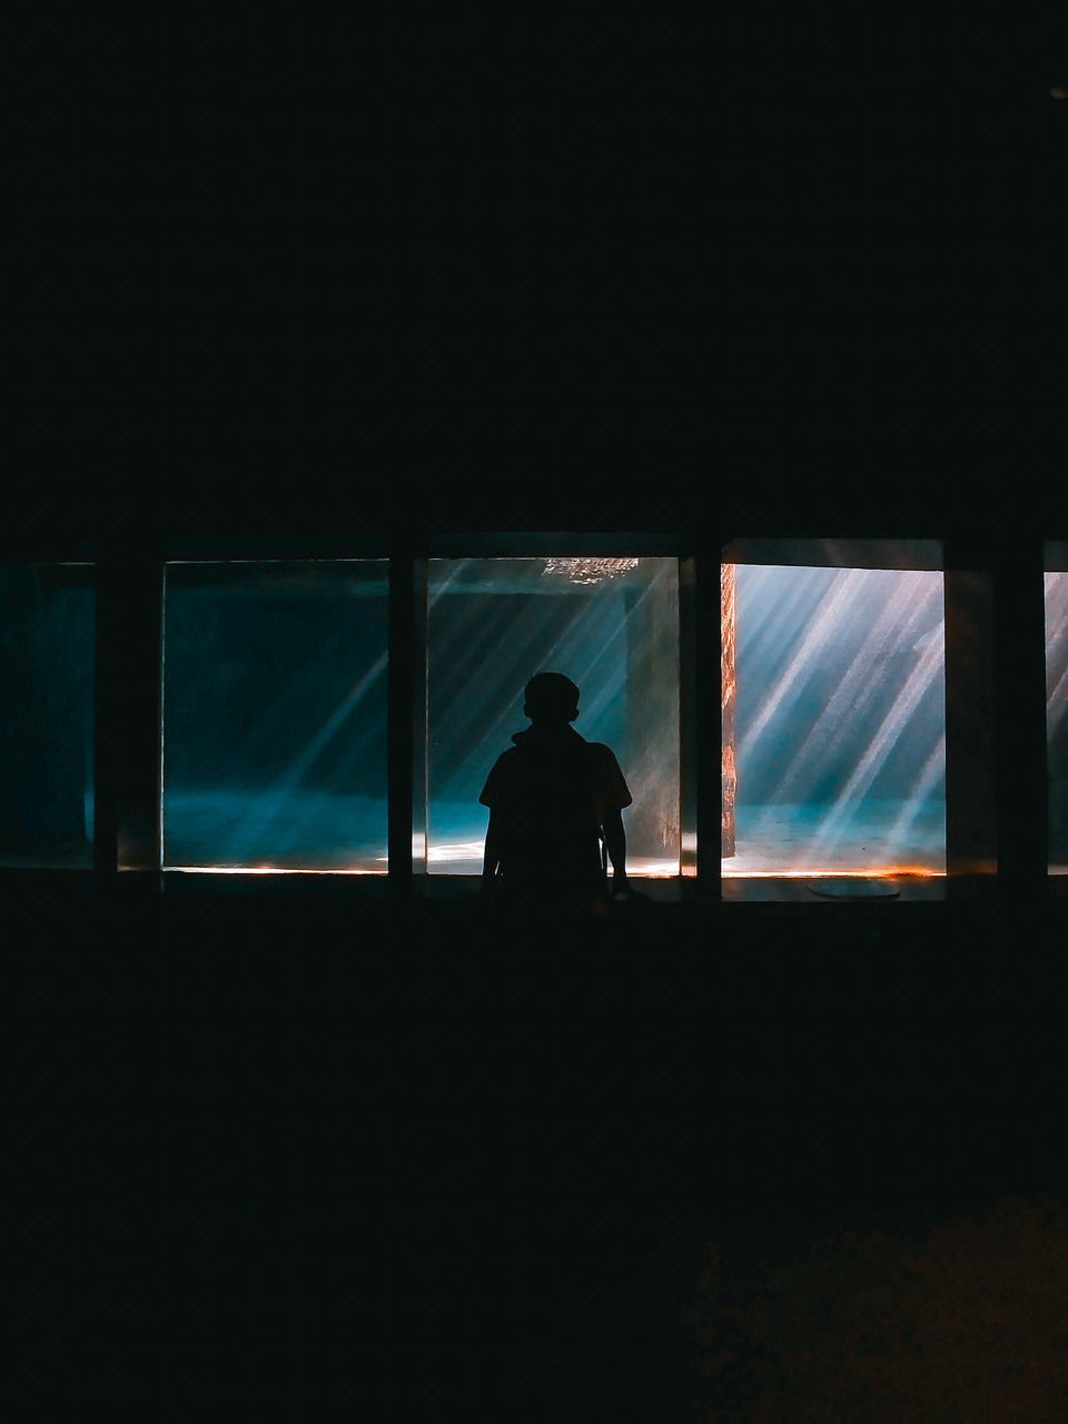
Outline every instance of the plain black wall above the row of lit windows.
<path id="1" fill-rule="evenodd" d="M 46 48 L 16 225 L 27 513 L 1038 523 L 1054 41 L 612 28 Z"/>

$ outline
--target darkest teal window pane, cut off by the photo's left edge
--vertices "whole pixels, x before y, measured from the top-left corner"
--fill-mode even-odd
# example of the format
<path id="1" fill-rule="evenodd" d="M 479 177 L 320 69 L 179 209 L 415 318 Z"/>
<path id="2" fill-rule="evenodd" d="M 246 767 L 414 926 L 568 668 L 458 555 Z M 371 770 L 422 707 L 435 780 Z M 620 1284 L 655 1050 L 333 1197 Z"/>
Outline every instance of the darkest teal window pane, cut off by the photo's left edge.
<path id="1" fill-rule="evenodd" d="M 0 864 L 93 866 L 94 570 L 0 567 Z"/>

